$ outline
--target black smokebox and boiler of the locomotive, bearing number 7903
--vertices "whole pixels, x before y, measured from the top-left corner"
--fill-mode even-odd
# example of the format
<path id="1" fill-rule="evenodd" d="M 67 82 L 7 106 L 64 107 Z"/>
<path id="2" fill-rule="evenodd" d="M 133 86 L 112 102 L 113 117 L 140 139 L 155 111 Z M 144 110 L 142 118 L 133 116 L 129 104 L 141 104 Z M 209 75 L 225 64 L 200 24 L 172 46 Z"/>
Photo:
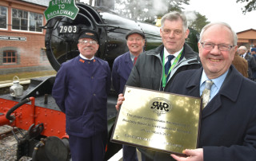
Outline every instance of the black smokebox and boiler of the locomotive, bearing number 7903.
<path id="1" fill-rule="evenodd" d="M 106 7 L 92 7 L 84 3 L 76 3 L 76 6 L 79 12 L 74 20 L 56 17 L 46 24 L 46 54 L 56 71 L 63 62 L 78 56 L 78 36 L 84 29 L 98 33 L 100 47 L 96 57 L 108 61 L 110 68 L 115 57 L 128 51 L 125 37 L 131 29 L 145 33 L 146 50 L 162 43 L 157 26 L 123 18 L 106 10 Z"/>

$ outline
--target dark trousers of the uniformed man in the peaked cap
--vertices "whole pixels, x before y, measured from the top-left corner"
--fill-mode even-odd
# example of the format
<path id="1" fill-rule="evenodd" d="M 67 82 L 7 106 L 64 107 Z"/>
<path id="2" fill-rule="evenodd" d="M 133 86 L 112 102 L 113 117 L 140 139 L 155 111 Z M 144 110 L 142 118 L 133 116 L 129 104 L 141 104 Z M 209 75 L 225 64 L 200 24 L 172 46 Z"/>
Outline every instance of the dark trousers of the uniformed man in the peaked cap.
<path id="1" fill-rule="evenodd" d="M 89 138 L 69 135 L 72 161 L 103 161 L 106 151 L 107 133 L 98 133 Z"/>

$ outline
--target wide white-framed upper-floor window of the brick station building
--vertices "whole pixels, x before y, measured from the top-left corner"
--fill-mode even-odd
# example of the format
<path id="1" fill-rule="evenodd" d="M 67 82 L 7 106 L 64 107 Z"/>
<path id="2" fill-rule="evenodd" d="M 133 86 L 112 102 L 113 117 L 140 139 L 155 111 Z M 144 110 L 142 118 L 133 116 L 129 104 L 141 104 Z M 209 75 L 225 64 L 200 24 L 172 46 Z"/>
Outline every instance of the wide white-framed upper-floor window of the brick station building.
<path id="1" fill-rule="evenodd" d="M 42 32 L 42 14 L 12 9 L 12 29 Z"/>

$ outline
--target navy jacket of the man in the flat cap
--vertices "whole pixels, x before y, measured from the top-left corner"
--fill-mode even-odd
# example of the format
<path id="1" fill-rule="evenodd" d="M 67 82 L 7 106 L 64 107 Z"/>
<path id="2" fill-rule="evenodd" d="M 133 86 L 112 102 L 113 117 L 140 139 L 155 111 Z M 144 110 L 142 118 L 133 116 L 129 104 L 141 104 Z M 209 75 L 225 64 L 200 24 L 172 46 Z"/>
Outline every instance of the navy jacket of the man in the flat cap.
<path id="1" fill-rule="evenodd" d="M 126 85 L 126 81 L 130 76 L 130 71 L 133 69 L 133 61 L 130 59 L 130 52 L 126 52 L 118 56 L 114 60 L 112 68 L 112 81 L 116 92 L 122 93 Z"/>

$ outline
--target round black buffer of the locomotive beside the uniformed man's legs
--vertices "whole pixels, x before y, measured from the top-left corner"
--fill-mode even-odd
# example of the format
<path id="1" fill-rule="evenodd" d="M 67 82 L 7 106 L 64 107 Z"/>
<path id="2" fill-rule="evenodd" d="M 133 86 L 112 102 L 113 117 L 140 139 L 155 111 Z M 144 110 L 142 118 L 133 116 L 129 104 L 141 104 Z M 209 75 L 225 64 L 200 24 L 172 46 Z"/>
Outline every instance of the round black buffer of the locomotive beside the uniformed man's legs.
<path id="1" fill-rule="evenodd" d="M 39 145 L 40 144 L 40 145 Z M 36 161 L 66 161 L 69 160 L 69 150 L 62 139 L 50 136 L 42 139 L 34 148 L 34 158 Z"/>

